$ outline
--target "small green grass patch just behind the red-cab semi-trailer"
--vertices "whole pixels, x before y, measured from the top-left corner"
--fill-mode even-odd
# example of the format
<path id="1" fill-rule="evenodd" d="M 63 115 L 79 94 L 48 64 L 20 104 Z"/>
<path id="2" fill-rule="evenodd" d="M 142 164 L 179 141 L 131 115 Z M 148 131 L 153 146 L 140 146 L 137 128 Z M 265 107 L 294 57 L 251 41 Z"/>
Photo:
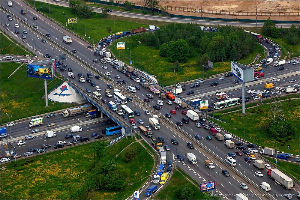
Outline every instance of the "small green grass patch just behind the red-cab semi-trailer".
<path id="1" fill-rule="evenodd" d="M 269 160 L 273 164 L 273 166 L 276 166 L 275 159 L 270 157 L 265 157 L 265 159 Z M 278 160 L 277 168 L 285 172 L 290 178 L 295 179 L 296 181 L 299 182 L 299 174 L 300 174 L 299 164 Z"/>

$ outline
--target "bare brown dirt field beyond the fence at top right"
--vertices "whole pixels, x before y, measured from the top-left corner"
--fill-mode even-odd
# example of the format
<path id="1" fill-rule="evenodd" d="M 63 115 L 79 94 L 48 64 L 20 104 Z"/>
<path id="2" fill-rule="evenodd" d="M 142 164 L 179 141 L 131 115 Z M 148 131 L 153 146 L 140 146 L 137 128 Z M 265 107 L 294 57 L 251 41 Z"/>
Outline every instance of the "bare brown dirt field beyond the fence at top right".
<path id="1" fill-rule="evenodd" d="M 144 1 L 141 0 L 130 0 L 131 2 L 138 3 L 139 5 L 145 6 Z M 236 12 L 240 13 L 240 16 L 229 15 L 228 18 L 231 19 L 256 19 L 256 6 L 257 6 L 257 19 L 267 19 L 270 17 L 272 20 L 290 20 L 290 21 L 299 21 L 299 12 L 300 12 L 300 1 L 175 1 L 175 0 L 161 0 L 160 6 L 165 7 L 168 6 L 169 9 L 166 11 L 172 14 L 178 15 L 190 15 L 190 16 L 201 16 L 201 12 L 199 9 L 201 8 L 204 12 L 207 10 L 213 10 L 212 13 L 222 12 Z M 171 6 L 173 9 L 171 10 Z M 176 7 L 176 8 L 175 8 Z M 181 7 L 181 8 L 179 8 Z M 188 8 L 188 9 L 187 9 Z M 192 9 L 191 9 L 192 8 Z M 198 9 L 198 10 L 196 10 Z M 192 11 L 193 10 L 193 11 Z M 248 12 L 248 14 L 247 14 Z M 265 15 L 265 12 L 272 12 L 272 16 L 260 16 Z M 286 16 L 274 16 L 274 12 L 279 15 L 281 12 L 286 13 Z M 243 15 L 242 15 L 243 13 Z M 253 16 L 249 16 L 252 13 Z M 294 15 L 297 16 L 291 16 Z M 208 13 L 202 13 L 203 17 L 209 17 Z M 211 14 L 211 17 L 217 18 L 226 18 L 226 15 L 222 14 Z"/>

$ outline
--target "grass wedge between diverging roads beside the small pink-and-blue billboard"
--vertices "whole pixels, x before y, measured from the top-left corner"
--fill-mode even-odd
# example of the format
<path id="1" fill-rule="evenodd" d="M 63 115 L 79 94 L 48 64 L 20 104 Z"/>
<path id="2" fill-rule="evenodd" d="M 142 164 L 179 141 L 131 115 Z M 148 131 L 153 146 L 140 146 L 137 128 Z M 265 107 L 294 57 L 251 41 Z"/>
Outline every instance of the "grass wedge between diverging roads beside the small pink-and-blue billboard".
<path id="1" fill-rule="evenodd" d="M 167 185 L 164 186 L 164 189 L 162 189 L 154 197 L 154 199 L 179 199 L 179 197 L 176 195 L 176 191 L 178 190 L 179 186 L 187 184 L 190 185 L 190 187 L 194 191 L 192 199 L 220 199 L 215 196 L 212 197 L 210 193 L 201 193 L 199 184 L 196 183 L 196 187 L 194 184 L 191 183 L 191 181 L 195 183 L 195 181 L 193 181 L 190 178 L 190 176 L 184 173 L 181 169 L 176 168 L 170 180 L 167 181 Z"/>

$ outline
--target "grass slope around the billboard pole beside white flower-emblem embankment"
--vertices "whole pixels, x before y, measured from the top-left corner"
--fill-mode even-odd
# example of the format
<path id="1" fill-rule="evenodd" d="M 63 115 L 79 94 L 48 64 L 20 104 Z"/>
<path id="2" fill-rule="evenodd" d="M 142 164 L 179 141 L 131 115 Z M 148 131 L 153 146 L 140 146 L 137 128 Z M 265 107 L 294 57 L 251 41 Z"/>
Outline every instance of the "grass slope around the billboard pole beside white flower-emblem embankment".
<path id="1" fill-rule="evenodd" d="M 26 64 L 23 64 L 12 76 L 10 76 L 21 64 L 1 62 L 1 124 L 22 119 L 34 115 L 69 108 L 75 104 L 57 103 L 48 101 L 49 107 L 45 107 L 44 79 L 29 77 L 26 74 Z M 10 76 L 8 79 L 7 77 Z M 58 86 L 61 79 L 47 80 L 48 91 Z"/>

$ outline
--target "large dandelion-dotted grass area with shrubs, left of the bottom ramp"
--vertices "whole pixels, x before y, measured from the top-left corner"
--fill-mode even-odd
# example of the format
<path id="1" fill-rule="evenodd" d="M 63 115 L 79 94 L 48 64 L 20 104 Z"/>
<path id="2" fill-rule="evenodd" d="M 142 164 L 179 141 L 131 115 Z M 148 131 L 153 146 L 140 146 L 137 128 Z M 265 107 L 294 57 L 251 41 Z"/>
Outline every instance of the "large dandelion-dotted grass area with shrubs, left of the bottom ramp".
<path id="1" fill-rule="evenodd" d="M 107 147 L 106 155 L 101 162 L 107 162 L 115 157 L 132 142 L 134 139 L 123 139 L 115 145 Z M 19 199 L 20 196 L 22 199 L 62 199 L 64 193 L 80 190 L 85 185 L 88 169 L 93 163 L 92 144 L 78 145 L 42 154 L 31 158 L 32 162 L 30 162 L 31 159 L 18 160 L 17 167 L 21 167 L 21 169 L 25 167 L 20 171 L 16 171 L 16 167 L 13 167 L 14 163 L 7 163 L 6 169 L 1 169 L 1 199 Z M 137 158 L 134 161 L 125 163 L 124 151 L 115 157 L 116 164 L 122 167 L 125 173 L 130 173 L 126 180 L 128 184 L 126 189 L 120 192 L 91 192 L 87 199 L 126 199 L 144 184 L 148 176 L 145 171 L 153 168 L 154 161 L 138 142 L 132 145 L 138 150 Z M 22 163 L 26 162 L 29 164 L 22 166 Z M 140 180 L 144 177 L 145 179 Z"/>

